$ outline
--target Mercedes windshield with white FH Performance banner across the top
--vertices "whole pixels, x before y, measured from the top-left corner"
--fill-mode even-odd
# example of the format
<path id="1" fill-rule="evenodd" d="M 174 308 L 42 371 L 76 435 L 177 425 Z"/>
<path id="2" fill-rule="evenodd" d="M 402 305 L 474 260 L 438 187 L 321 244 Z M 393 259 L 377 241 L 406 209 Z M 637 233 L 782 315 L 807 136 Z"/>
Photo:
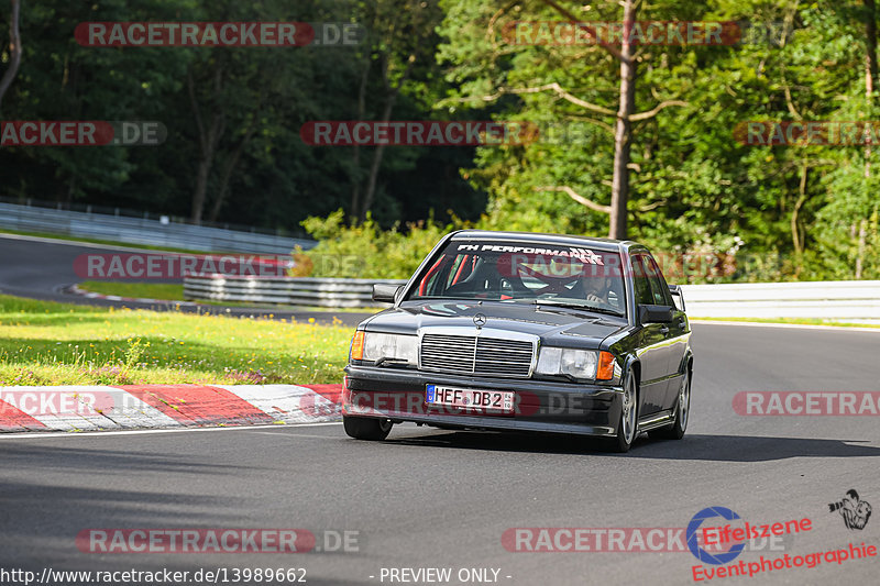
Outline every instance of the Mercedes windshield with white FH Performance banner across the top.
<path id="1" fill-rule="evenodd" d="M 483 299 L 626 314 L 620 255 L 588 245 L 452 240 L 408 300 Z"/>

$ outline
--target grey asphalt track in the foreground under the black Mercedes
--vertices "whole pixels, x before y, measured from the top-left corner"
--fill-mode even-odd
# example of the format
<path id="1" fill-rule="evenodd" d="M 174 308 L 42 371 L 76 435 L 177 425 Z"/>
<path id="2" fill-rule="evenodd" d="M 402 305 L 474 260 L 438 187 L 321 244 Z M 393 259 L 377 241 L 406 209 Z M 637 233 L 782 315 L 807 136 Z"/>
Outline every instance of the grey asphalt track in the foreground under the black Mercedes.
<path id="1" fill-rule="evenodd" d="M 400 584 L 387 568 L 428 567 L 452 568 L 449 584 L 461 584 L 461 568 L 495 568 L 497 582 L 512 585 L 694 584 L 697 560 L 686 551 L 514 553 L 502 535 L 683 528 L 711 506 L 752 524 L 812 521 L 784 551 L 746 551 L 734 564 L 880 545 L 877 515 L 850 530 L 828 509 L 850 488 L 880 505 L 877 417 L 744 417 L 732 408 L 743 390 L 880 391 L 880 332 L 695 324 L 692 343 L 688 435 L 642 438 L 625 455 L 564 438 L 415 425 L 395 428 L 384 443 L 350 440 L 337 423 L 6 436 L 0 566 L 300 567 L 308 584 Z M 90 528 L 356 531 L 358 551 L 80 553 L 75 538 Z M 877 573 L 878 559 L 868 557 L 711 582 L 875 584 Z"/>

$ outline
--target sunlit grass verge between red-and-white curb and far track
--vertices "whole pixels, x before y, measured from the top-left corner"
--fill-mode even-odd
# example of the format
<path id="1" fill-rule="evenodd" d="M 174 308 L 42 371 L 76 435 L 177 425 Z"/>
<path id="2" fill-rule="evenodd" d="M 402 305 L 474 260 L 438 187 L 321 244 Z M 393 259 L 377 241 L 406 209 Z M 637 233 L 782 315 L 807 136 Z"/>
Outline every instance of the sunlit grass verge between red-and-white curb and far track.
<path id="1" fill-rule="evenodd" d="M 0 385 L 339 383 L 351 334 L 0 296 Z"/>

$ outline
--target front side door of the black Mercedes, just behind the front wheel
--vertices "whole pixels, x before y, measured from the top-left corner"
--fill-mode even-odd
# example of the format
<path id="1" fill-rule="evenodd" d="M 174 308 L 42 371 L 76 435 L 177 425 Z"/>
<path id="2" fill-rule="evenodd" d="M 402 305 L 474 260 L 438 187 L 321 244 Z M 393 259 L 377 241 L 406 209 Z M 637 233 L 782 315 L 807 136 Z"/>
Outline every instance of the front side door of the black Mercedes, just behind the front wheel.
<path id="1" fill-rule="evenodd" d="M 650 264 L 646 265 L 646 254 L 630 256 L 634 294 L 636 297 L 636 316 L 638 307 L 658 305 L 651 288 Z M 662 303 L 661 303 L 662 305 Z M 669 349 L 667 345 L 669 325 L 666 323 L 644 323 L 636 334 L 636 354 L 641 364 L 640 410 L 639 417 L 653 414 L 663 410 L 667 403 L 669 377 Z"/>

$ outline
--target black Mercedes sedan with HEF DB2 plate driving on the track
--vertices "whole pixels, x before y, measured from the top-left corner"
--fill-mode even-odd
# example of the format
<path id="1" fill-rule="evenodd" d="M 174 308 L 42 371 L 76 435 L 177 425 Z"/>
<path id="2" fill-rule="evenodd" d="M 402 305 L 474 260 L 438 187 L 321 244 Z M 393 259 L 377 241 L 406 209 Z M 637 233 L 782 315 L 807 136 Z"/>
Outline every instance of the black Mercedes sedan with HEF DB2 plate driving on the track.
<path id="1" fill-rule="evenodd" d="M 635 242 L 453 232 L 361 322 L 345 368 L 345 432 L 394 423 L 681 439 L 693 354 L 678 287 Z"/>

